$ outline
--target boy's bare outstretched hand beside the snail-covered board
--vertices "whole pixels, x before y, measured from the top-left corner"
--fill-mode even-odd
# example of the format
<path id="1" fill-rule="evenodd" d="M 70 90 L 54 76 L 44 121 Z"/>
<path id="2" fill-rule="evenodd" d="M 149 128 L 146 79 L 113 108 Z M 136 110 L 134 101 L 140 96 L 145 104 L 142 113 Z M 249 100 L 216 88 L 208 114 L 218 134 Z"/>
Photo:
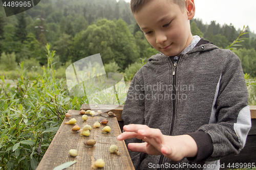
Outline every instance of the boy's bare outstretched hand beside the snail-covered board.
<path id="1" fill-rule="evenodd" d="M 143 143 L 129 143 L 128 149 L 131 151 L 144 152 L 149 155 L 164 155 L 174 161 L 197 155 L 197 143 L 189 135 L 167 136 L 163 135 L 159 129 L 135 124 L 124 126 L 123 130 L 125 132 L 117 136 L 118 140 L 135 137 L 145 141 Z"/>

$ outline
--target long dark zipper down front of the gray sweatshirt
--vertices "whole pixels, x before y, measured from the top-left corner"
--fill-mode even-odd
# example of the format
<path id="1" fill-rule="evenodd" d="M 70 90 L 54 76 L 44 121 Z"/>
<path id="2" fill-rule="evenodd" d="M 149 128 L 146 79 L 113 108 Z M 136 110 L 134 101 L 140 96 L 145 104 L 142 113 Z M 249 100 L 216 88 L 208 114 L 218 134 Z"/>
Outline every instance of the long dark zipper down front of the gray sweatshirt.
<path id="1" fill-rule="evenodd" d="M 169 132 L 169 136 L 172 135 L 173 131 L 174 131 L 174 121 L 175 121 L 175 114 L 176 114 L 176 75 L 175 73 L 177 72 L 177 65 L 178 65 L 178 59 L 179 57 L 175 56 L 174 57 L 174 62 L 172 62 L 172 60 L 169 57 L 169 60 L 171 63 L 173 63 L 173 87 L 175 87 L 175 90 L 173 90 L 174 95 L 171 96 L 175 96 L 175 99 L 173 100 L 173 119 L 172 119 L 172 126 L 170 127 L 170 132 Z M 161 165 L 163 163 L 163 155 L 160 156 L 160 160 L 159 160 L 159 165 Z M 161 170 L 162 168 L 159 167 L 157 168 L 157 170 Z"/>

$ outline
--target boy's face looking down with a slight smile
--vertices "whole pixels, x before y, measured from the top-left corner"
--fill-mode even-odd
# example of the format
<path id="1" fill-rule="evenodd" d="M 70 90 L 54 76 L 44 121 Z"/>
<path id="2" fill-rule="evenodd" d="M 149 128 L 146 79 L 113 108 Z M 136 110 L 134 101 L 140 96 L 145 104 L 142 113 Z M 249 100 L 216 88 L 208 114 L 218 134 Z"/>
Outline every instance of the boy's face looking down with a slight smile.
<path id="1" fill-rule="evenodd" d="M 182 10 L 170 0 L 153 0 L 134 14 L 147 41 L 166 56 L 178 56 L 191 43 L 189 19 L 194 16 L 194 0 Z"/>

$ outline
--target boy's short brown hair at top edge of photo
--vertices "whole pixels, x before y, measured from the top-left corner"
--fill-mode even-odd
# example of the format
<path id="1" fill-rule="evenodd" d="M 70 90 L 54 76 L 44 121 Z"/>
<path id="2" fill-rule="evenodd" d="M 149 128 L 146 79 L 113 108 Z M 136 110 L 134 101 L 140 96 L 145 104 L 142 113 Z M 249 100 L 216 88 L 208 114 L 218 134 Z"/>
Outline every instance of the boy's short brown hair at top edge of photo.
<path id="1" fill-rule="evenodd" d="M 132 12 L 135 14 L 140 10 L 140 8 L 147 4 L 148 2 L 153 1 L 153 0 L 131 0 L 130 2 L 130 8 Z M 185 2 L 186 0 L 168 0 L 172 1 L 172 3 L 179 5 L 181 11 L 185 8 Z"/>

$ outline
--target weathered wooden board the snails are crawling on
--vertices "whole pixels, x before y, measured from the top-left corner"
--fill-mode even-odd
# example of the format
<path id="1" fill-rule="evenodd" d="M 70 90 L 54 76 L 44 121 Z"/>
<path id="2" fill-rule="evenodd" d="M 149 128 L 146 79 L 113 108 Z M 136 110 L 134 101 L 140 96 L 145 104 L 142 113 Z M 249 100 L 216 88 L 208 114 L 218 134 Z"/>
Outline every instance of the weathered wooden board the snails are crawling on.
<path id="1" fill-rule="evenodd" d="M 71 117 L 76 118 L 76 124 L 80 128 L 86 124 L 93 127 L 94 122 L 101 122 L 101 120 L 107 119 L 109 121 L 107 125 L 111 127 L 111 132 L 108 134 L 101 133 L 104 127 L 104 125 L 101 125 L 99 128 L 93 128 L 90 136 L 80 136 L 79 132 L 71 131 L 74 125 L 65 124 L 65 122 L 69 121 L 68 118 L 65 118 L 44 157 L 40 161 L 37 170 L 51 170 L 62 163 L 73 160 L 77 160 L 77 162 L 68 167 L 67 170 L 93 169 L 91 168 L 92 160 L 95 161 L 100 158 L 105 161 L 105 166 L 100 169 L 134 169 L 124 141 L 119 141 L 116 138 L 121 134 L 116 117 L 91 117 L 89 115 L 88 120 L 83 122 L 82 115 L 79 115 L 79 112 L 78 110 L 69 110 Z M 83 144 L 83 141 L 89 139 L 96 140 L 93 148 L 86 148 Z M 109 147 L 112 144 L 118 146 L 121 152 L 120 155 L 109 152 Z M 76 149 L 78 151 L 77 157 L 71 157 L 69 155 L 70 149 Z"/>

